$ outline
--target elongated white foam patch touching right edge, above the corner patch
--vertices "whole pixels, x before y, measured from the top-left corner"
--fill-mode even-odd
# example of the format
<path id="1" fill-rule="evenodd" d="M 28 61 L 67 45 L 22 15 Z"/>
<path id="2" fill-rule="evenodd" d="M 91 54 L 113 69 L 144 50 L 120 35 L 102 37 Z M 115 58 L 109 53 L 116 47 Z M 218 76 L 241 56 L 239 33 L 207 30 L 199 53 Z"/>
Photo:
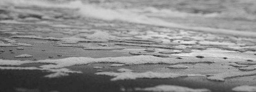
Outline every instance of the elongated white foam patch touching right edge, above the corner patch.
<path id="1" fill-rule="evenodd" d="M 255 75 L 256 72 L 224 72 L 217 74 L 209 74 L 210 77 L 207 77 L 208 80 L 213 81 L 225 81 L 225 78 L 238 77 L 238 76 L 251 76 Z"/>

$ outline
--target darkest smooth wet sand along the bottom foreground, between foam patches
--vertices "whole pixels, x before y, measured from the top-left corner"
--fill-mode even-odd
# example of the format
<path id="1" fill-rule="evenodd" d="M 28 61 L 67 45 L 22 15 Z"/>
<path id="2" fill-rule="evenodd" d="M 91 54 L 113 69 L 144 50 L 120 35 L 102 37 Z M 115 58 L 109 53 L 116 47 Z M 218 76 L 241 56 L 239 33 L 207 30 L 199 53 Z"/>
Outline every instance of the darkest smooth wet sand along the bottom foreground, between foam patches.
<path id="1" fill-rule="evenodd" d="M 190 88 L 208 88 L 212 92 L 232 92 L 231 88 L 238 85 L 248 83 L 256 85 L 256 82 L 253 82 L 256 81 L 256 76 L 246 77 L 253 79 L 252 81 L 239 80 L 242 77 L 236 77 L 226 79 L 225 82 L 210 81 L 207 80 L 206 77 L 110 81 L 112 77 L 94 74 L 97 69 L 93 67 L 100 65 L 105 66 L 105 68 L 102 69 L 103 71 L 116 71 L 116 69 L 120 68 L 110 68 L 110 64 L 108 63 L 71 66 L 69 69 L 82 70 L 83 73 L 70 74 L 69 76 L 60 78 L 45 78 L 43 76 L 49 73 L 40 70 L 0 70 L 0 92 L 15 92 L 16 88 L 38 89 L 39 92 L 120 92 L 120 88 L 153 87 L 161 84 L 180 85 Z M 142 66 L 144 65 L 124 66 L 122 68 L 133 69 L 138 67 L 142 68 Z"/>

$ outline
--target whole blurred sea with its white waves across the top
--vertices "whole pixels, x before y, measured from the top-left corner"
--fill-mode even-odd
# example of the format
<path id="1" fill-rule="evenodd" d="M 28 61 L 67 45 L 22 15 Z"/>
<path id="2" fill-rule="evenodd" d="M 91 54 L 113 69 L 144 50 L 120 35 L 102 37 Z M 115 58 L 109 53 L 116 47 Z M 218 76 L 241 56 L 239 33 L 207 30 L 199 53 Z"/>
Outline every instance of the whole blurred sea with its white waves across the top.
<path id="1" fill-rule="evenodd" d="M 42 10 L 35 9 L 35 6 L 41 9 L 55 7 L 65 8 L 67 12 L 71 9 L 70 13 L 82 18 L 152 24 L 225 35 L 255 37 L 256 34 L 254 0 L 1 0 L 0 5 L 2 9 L 8 8 L 20 13 L 40 14 Z"/>

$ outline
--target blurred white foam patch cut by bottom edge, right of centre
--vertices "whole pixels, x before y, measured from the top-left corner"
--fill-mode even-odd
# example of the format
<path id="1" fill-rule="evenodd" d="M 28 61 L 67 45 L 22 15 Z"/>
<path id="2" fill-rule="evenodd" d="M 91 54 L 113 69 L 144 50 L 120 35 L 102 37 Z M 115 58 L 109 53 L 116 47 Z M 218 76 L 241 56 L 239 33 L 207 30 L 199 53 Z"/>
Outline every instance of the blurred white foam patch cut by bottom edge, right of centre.
<path id="1" fill-rule="evenodd" d="M 135 91 L 148 91 L 148 92 L 211 92 L 209 89 L 193 89 L 177 85 L 158 85 L 155 87 L 135 88 Z"/>

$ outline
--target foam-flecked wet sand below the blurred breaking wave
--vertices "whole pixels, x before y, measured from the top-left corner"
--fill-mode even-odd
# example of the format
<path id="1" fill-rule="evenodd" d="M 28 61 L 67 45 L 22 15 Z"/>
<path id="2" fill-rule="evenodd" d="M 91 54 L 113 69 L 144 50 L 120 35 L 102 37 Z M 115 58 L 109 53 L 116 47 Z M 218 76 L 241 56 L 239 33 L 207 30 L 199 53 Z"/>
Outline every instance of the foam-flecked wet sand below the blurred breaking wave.
<path id="1" fill-rule="evenodd" d="M 48 8 L 35 9 L 45 13 L 40 16 L 54 17 L 44 19 L 25 14 L 23 16 L 25 18 L 0 20 L 0 80 L 2 80 L 0 92 L 136 92 L 135 88 L 157 85 L 178 85 L 189 88 L 207 88 L 212 92 L 233 92 L 231 89 L 240 85 L 256 85 L 255 74 L 227 77 L 224 78 L 225 81 L 207 79 L 212 76 L 211 74 L 255 72 L 255 70 L 239 70 L 240 67 L 230 65 L 241 63 L 241 65 L 256 68 L 253 64 L 256 61 L 255 37 L 219 35 L 119 20 L 80 18 L 74 15 L 75 9 L 64 11 L 61 8 L 53 8 L 61 16 L 46 12 Z M 8 10 L 4 12 L 10 13 Z M 20 12 L 14 13 L 19 15 Z M 33 12 L 30 13 L 33 14 Z M 17 49 L 18 47 L 23 49 Z M 134 51 L 135 54 L 131 53 Z M 159 53 L 168 51 L 174 53 Z M 20 54 L 29 54 L 33 57 L 15 57 Z M 113 57 L 123 58 L 137 55 L 157 57 L 159 60 L 143 61 L 148 58 L 141 57 L 139 59 L 138 57 L 129 58 L 130 60 L 120 59 L 120 61 L 113 59 Z M 73 60 L 70 59 L 72 57 Z M 80 60 L 75 57 L 90 58 Z M 106 59 L 106 57 L 112 58 Z M 106 60 L 101 60 L 101 58 Z M 12 62 L 21 65 L 10 65 L 15 64 Z M 23 64 L 23 62 L 28 63 Z M 69 62 L 72 64 L 69 65 Z M 126 65 L 111 66 L 120 62 L 125 62 Z M 138 65 L 136 62 L 139 62 Z M 44 65 L 50 66 L 51 64 L 52 67 L 44 67 Z M 62 67 L 61 64 L 64 66 Z M 176 64 L 188 68 L 166 68 Z M 96 66 L 102 69 L 95 69 Z M 5 69 L 7 67 L 36 67 L 45 70 L 8 70 Z M 67 68 L 82 73 L 64 73 L 65 76 L 48 78 L 45 75 L 52 74 L 52 72 L 49 72 L 47 68 Z M 111 76 L 95 74 L 99 71 L 119 73 L 117 70 L 121 68 L 131 69 L 134 73 L 151 71 L 203 76 L 111 81 L 113 78 Z"/>

